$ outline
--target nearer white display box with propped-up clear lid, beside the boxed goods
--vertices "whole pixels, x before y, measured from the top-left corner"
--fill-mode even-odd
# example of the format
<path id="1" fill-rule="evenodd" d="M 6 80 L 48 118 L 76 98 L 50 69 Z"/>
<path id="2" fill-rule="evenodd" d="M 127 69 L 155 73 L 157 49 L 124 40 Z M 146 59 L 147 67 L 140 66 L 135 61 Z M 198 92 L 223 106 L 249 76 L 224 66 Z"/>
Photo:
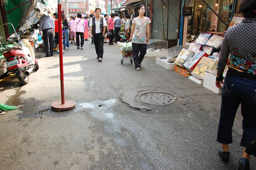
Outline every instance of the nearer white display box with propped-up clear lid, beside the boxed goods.
<path id="1" fill-rule="evenodd" d="M 161 51 L 161 53 L 157 53 L 156 64 L 166 68 L 167 70 L 175 70 L 175 63 L 169 62 L 170 59 L 177 57 L 180 54 L 180 51 L 189 46 L 187 45 L 177 45 L 175 47 L 169 48 L 167 50 Z"/>

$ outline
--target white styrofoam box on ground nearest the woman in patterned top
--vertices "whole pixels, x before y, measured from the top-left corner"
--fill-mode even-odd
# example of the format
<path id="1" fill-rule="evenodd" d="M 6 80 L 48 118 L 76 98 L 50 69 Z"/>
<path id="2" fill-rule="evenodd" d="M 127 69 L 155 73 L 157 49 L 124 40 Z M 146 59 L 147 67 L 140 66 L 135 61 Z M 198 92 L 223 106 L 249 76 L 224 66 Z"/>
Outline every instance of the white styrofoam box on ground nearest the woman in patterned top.
<path id="1" fill-rule="evenodd" d="M 222 93 L 222 88 L 219 89 L 216 87 L 215 85 L 215 79 L 216 76 L 206 73 L 204 76 L 204 84 L 203 86 L 207 89 L 209 89 L 210 91 L 213 91 L 216 94 L 221 94 Z"/>

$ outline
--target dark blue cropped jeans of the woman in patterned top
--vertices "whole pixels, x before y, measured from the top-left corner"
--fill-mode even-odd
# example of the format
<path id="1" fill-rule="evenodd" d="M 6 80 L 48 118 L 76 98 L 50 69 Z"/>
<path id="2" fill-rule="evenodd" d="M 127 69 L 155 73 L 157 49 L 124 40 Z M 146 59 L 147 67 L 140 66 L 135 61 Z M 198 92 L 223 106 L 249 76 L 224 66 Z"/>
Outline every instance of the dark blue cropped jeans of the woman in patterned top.
<path id="1" fill-rule="evenodd" d="M 247 147 L 256 136 L 256 81 L 239 77 L 226 77 L 222 90 L 221 116 L 217 141 L 230 144 L 232 127 L 241 102 L 243 135 L 240 145 Z"/>

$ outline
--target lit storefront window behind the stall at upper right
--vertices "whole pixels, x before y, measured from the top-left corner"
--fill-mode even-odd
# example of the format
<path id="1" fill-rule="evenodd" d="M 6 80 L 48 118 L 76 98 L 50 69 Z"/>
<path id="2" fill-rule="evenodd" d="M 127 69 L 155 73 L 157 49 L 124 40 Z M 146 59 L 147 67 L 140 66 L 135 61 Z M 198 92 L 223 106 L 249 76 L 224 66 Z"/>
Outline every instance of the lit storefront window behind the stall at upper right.
<path id="1" fill-rule="evenodd" d="M 185 6 L 192 7 L 193 14 L 188 17 L 187 34 L 191 42 L 201 32 L 206 31 L 225 31 L 230 23 L 232 14 L 233 0 L 204 0 L 207 5 L 201 0 L 185 0 Z M 212 8 L 225 23 L 214 13 Z M 195 37 L 195 38 L 191 38 Z"/>

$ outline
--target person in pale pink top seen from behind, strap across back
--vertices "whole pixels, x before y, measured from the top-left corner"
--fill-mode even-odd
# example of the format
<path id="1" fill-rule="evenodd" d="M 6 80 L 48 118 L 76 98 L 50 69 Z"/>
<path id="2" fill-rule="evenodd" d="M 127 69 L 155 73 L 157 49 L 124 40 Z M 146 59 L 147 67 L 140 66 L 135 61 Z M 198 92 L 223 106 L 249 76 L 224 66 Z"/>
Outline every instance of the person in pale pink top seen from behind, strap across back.
<path id="1" fill-rule="evenodd" d="M 79 49 L 80 45 L 80 41 L 79 41 L 79 35 L 80 35 L 80 39 L 81 39 L 81 50 L 84 49 L 83 45 L 84 45 L 84 31 L 85 31 L 85 25 L 84 25 L 84 20 L 81 19 L 82 14 L 78 13 L 77 14 L 77 18 L 76 18 L 76 25 L 75 25 L 75 30 L 76 30 L 76 46 L 77 49 Z"/>

